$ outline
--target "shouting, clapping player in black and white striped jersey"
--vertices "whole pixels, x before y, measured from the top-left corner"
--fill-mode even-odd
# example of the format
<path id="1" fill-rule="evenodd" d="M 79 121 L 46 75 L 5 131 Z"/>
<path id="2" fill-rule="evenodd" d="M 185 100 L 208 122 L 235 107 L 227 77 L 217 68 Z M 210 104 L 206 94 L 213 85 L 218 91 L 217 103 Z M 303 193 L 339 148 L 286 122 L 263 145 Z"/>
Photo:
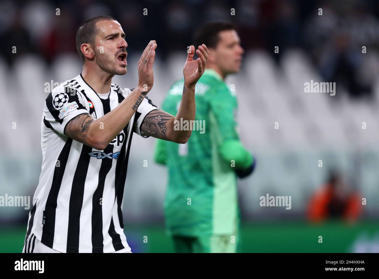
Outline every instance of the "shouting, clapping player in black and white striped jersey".
<path id="1" fill-rule="evenodd" d="M 76 46 L 83 71 L 47 96 L 41 123 L 42 171 L 29 214 L 23 252 L 131 252 L 124 234 L 122 200 L 133 132 L 185 143 L 190 131 L 174 120 L 195 116 L 194 86 L 208 57 L 190 47 L 184 65 L 182 105 L 176 116 L 147 98 L 153 86 L 156 42 L 138 62 L 133 89 L 112 84 L 127 72 L 128 44 L 109 16 L 86 20 Z M 185 94 L 184 94 L 185 92 Z"/>

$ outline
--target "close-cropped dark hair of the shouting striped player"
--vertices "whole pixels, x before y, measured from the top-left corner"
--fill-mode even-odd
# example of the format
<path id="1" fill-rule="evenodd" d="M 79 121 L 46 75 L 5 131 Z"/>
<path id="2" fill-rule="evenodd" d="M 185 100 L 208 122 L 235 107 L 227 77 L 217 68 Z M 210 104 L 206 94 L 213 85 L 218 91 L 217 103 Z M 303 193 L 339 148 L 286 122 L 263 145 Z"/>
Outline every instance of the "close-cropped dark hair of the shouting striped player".
<path id="1" fill-rule="evenodd" d="M 85 22 L 79 25 L 78 30 L 76 31 L 76 49 L 80 55 L 81 62 L 84 64 L 86 58 L 80 50 L 82 44 L 92 44 L 95 43 L 95 36 L 97 34 L 96 23 L 100 20 L 115 20 L 111 16 L 96 16 L 87 19 Z"/>

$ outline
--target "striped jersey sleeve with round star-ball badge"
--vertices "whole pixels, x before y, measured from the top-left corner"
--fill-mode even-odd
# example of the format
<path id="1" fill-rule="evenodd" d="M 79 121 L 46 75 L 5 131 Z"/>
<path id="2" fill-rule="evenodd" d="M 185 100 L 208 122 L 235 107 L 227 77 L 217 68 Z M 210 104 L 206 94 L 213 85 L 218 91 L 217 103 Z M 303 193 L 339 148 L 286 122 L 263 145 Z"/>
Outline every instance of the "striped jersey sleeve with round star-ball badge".
<path id="1" fill-rule="evenodd" d="M 66 87 L 54 88 L 45 102 L 45 125 L 66 136 L 64 127 L 67 123 L 79 114 L 89 113 L 84 98 L 77 90 L 70 92 Z"/>

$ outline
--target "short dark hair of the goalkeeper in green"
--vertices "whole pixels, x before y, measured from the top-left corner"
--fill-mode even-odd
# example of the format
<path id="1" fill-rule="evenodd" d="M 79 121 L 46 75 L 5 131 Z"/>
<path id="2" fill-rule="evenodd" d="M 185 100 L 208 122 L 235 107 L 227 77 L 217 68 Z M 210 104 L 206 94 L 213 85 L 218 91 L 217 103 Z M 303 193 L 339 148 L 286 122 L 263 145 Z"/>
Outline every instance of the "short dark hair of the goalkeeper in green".
<path id="1" fill-rule="evenodd" d="M 218 33 L 224 30 L 235 29 L 235 24 L 229 21 L 207 22 L 196 32 L 194 38 L 195 49 L 197 49 L 198 46 L 201 46 L 201 44 L 205 44 L 207 47 L 216 48 L 218 42 L 220 41 Z"/>

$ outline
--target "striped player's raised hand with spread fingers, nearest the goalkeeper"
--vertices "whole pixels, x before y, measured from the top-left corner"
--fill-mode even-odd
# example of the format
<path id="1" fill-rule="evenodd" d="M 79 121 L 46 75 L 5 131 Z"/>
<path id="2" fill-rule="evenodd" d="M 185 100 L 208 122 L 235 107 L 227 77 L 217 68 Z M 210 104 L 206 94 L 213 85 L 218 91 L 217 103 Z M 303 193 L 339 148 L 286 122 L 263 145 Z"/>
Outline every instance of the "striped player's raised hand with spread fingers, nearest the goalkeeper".
<path id="1" fill-rule="evenodd" d="M 196 54 L 199 55 L 199 58 L 193 60 L 193 56 L 195 55 L 195 47 L 189 46 L 187 60 L 183 69 L 184 84 L 188 87 L 195 86 L 197 80 L 200 79 L 205 71 L 209 54 L 207 46 L 205 46 L 205 44 L 199 46 L 196 50 Z"/>

